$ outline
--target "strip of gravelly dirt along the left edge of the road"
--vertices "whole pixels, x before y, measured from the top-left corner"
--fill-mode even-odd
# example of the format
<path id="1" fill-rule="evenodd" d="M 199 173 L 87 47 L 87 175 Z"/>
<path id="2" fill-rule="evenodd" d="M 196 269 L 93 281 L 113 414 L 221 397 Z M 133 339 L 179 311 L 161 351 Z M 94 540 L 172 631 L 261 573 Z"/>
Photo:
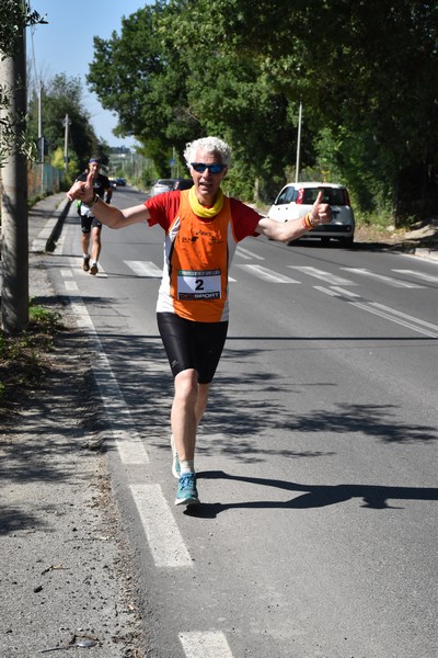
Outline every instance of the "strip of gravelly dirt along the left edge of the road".
<path id="1" fill-rule="evenodd" d="M 92 353 L 51 290 L 44 257 L 31 258 L 31 295 L 60 314 L 64 329 L 51 348 L 38 343 L 34 383 L 24 389 L 15 377 L 0 409 L 0 656 L 74 653 L 82 643 L 95 658 L 142 658 L 139 592 L 106 467 Z M 26 366 L 35 367 L 32 358 Z"/>

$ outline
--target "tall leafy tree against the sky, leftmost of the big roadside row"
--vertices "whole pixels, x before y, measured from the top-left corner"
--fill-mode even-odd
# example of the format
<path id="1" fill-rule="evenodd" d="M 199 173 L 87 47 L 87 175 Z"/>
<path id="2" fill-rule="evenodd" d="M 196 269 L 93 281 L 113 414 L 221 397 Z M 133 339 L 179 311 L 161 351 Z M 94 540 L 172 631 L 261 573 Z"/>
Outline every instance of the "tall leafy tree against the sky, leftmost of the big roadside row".
<path id="1" fill-rule="evenodd" d="M 116 134 L 134 135 L 143 154 L 169 174 L 172 149 L 182 150 L 199 134 L 199 122 L 187 110 L 186 64 L 159 36 L 165 3 L 145 7 L 124 19 L 122 34 L 94 37 L 94 60 L 88 82 L 102 106 L 117 113 Z"/>

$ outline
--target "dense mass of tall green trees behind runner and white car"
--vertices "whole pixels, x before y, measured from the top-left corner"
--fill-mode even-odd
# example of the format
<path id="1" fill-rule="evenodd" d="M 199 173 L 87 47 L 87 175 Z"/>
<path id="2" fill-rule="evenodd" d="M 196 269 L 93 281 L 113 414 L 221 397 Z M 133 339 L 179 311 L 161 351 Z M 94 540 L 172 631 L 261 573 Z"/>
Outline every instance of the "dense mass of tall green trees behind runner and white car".
<path id="1" fill-rule="evenodd" d="M 437 39 L 430 1 L 170 0 L 125 19 L 119 37 L 95 39 L 89 82 L 163 167 L 171 144 L 228 138 L 240 190 L 290 170 L 302 102 L 304 166 L 336 172 L 359 208 L 426 212 Z M 420 184 L 403 193 L 412 173 Z"/>

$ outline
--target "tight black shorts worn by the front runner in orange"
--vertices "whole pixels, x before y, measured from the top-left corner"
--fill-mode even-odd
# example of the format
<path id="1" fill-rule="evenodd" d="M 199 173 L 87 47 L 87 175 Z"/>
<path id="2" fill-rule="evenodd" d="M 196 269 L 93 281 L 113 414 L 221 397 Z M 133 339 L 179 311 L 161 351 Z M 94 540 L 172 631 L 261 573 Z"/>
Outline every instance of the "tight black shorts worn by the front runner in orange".
<path id="1" fill-rule="evenodd" d="M 173 313 L 158 313 L 157 321 L 173 376 L 194 368 L 199 384 L 209 384 L 222 354 L 228 322 L 193 322 Z"/>

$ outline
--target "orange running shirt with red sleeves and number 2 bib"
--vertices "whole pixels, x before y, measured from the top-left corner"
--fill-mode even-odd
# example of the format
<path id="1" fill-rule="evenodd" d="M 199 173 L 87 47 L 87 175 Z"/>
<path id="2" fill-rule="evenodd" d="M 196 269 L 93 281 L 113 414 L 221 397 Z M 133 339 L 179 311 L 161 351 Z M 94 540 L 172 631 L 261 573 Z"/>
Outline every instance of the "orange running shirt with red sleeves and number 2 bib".
<path id="1" fill-rule="evenodd" d="M 192 211 L 188 190 L 158 195 L 145 205 L 150 226 L 160 224 L 166 234 L 157 311 L 198 322 L 228 320 L 230 264 L 239 240 L 257 235 L 260 215 L 226 196 L 218 215 L 200 218 Z M 241 219 L 238 230 L 235 215 Z"/>

